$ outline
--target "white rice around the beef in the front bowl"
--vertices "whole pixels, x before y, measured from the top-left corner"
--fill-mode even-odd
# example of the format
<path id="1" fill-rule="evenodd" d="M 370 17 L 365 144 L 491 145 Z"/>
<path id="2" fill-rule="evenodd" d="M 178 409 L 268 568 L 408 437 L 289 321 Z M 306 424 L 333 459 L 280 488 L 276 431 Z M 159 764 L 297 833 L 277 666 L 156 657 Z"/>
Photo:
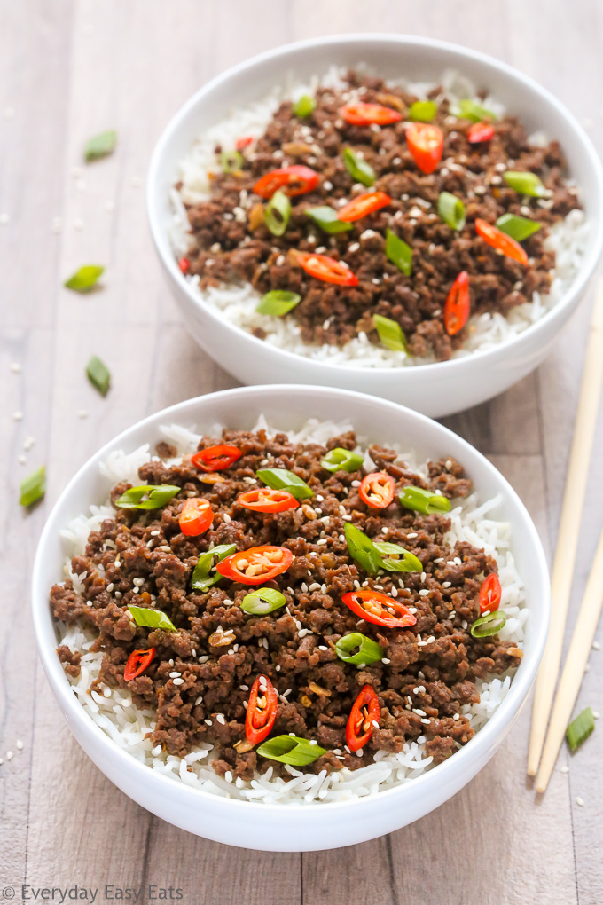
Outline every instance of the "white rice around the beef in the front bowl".
<path id="1" fill-rule="evenodd" d="M 265 427 L 269 433 L 275 433 L 264 419 L 260 419 L 257 427 Z M 298 443 L 324 443 L 329 437 L 352 429 L 351 424 L 319 423 L 310 420 L 301 431 L 291 432 L 289 436 Z M 216 425 L 211 433 L 219 430 L 220 426 Z M 161 432 L 166 440 L 178 448 L 179 455 L 193 452 L 201 436 L 194 430 L 178 424 L 162 427 Z M 362 448 L 365 449 L 363 443 Z M 412 453 L 400 452 L 400 456 L 411 468 L 426 473 L 426 463 L 417 462 Z M 152 458 L 154 457 L 146 444 L 134 452 L 112 452 L 107 462 L 103 462 L 100 468 L 108 481 L 137 481 L 138 467 Z M 365 461 L 372 467 L 367 452 Z M 506 615 L 506 624 L 500 637 L 521 647 L 528 609 L 523 605 L 523 583 L 515 567 L 511 550 L 511 526 L 508 522 L 496 519 L 500 502 L 498 496 L 480 503 L 475 494 L 466 500 L 454 501 L 450 512 L 452 528 L 446 539 L 451 546 L 457 540 L 466 540 L 484 548 L 486 553 L 495 557 L 503 588 L 501 609 Z M 102 519 L 111 517 L 113 513 L 113 508 L 108 504 L 90 506 L 88 515 L 81 514 L 73 519 L 69 527 L 61 532 L 66 548 L 64 576 L 70 577 L 79 590 L 83 586 L 78 576 L 71 572 L 71 557 L 83 553 L 90 531 L 98 529 Z M 400 586 L 403 586 L 403 576 L 400 577 Z M 57 628 L 60 643 L 67 644 L 71 650 L 81 653 L 80 676 L 77 679 L 70 678 L 69 681 L 90 719 L 93 719 L 119 748 L 123 748 L 132 757 L 136 757 L 155 772 L 171 776 L 174 780 L 184 782 L 193 788 L 203 788 L 204 791 L 215 795 L 271 804 L 346 801 L 363 795 L 372 795 L 391 786 L 399 786 L 414 776 L 420 776 L 432 765 L 432 758 L 426 756 L 425 742 L 422 740 L 406 743 L 398 754 L 379 751 L 374 756 L 374 763 L 354 771 L 344 768 L 338 773 L 327 774 L 323 771 L 314 776 L 306 775 L 294 767 L 286 767 L 290 775 L 287 781 L 272 776 L 273 771 L 269 769 L 263 776 L 257 774 L 250 782 L 240 778 L 228 782 L 214 773 L 210 766 L 213 757 L 210 744 L 195 748 L 186 757 L 165 754 L 160 746 L 153 748 L 146 735 L 155 728 L 155 710 L 137 708 L 128 691 L 105 687 L 103 694 L 93 691 L 90 695 L 88 693 L 90 684 L 99 676 L 102 661 L 102 653 L 90 652 L 97 633 L 83 624 L 68 626 L 58 622 Z M 423 639 L 424 642 L 427 640 Z M 509 671 L 490 681 L 476 682 L 480 694 L 479 703 L 465 705 L 462 708 L 462 713 L 470 720 L 471 726 L 476 731 L 485 725 L 500 706 L 509 691 L 512 673 L 513 671 Z"/>

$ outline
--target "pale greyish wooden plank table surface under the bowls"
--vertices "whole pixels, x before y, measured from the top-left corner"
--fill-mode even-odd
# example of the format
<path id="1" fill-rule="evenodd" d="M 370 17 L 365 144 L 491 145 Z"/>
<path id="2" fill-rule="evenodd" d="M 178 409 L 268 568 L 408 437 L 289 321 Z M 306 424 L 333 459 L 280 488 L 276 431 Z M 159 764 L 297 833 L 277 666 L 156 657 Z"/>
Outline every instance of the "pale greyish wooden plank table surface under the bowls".
<path id="1" fill-rule="evenodd" d="M 549 791 L 536 801 L 525 778 L 524 708 L 490 764 L 419 823 L 335 852 L 246 852 L 177 830 L 118 792 L 71 738 L 34 650 L 33 555 L 65 482 L 101 443 L 144 415 L 235 386 L 187 335 L 155 261 L 144 181 L 156 138 L 193 90 L 232 63 L 280 43 L 361 30 L 435 36 L 495 54 L 560 97 L 601 147 L 598 0 L 0 3 L 0 897 L 8 885 L 20 901 L 23 883 L 78 884 L 99 889 L 103 901 L 110 883 L 179 887 L 184 905 L 603 902 L 597 733 L 574 757 L 562 750 Z M 113 127 L 117 152 L 84 167 L 84 141 Z M 105 289 L 90 297 L 61 288 L 83 262 L 108 269 Z M 537 373 L 447 419 L 512 482 L 548 552 L 589 303 Z M 107 399 L 83 376 L 91 354 L 112 371 Z M 603 519 L 601 427 L 573 613 Z M 17 504 L 19 481 L 42 463 L 47 497 L 27 514 Z M 593 650 L 590 666 L 579 704 L 603 711 L 603 653 Z"/>

